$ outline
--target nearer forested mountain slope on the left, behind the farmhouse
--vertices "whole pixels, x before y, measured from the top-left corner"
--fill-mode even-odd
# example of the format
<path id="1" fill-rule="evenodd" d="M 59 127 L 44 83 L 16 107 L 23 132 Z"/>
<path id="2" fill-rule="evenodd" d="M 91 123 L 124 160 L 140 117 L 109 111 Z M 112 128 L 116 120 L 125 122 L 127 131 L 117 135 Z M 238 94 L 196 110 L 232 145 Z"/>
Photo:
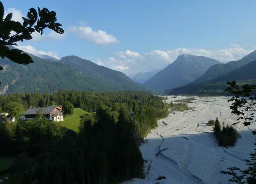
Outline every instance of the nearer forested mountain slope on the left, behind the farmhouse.
<path id="1" fill-rule="evenodd" d="M 106 78 L 103 80 L 102 77 L 92 75 L 93 72 L 84 72 L 59 61 L 46 60 L 34 55 L 31 57 L 34 63 L 28 65 L 17 64 L 7 58 L 0 60 L 0 66 L 4 66 L 4 70 L 0 71 L 1 94 L 6 92 L 55 92 L 68 89 L 148 91 L 148 88 L 115 70 L 104 68 Z M 102 68 L 96 64 L 94 67 Z"/>

